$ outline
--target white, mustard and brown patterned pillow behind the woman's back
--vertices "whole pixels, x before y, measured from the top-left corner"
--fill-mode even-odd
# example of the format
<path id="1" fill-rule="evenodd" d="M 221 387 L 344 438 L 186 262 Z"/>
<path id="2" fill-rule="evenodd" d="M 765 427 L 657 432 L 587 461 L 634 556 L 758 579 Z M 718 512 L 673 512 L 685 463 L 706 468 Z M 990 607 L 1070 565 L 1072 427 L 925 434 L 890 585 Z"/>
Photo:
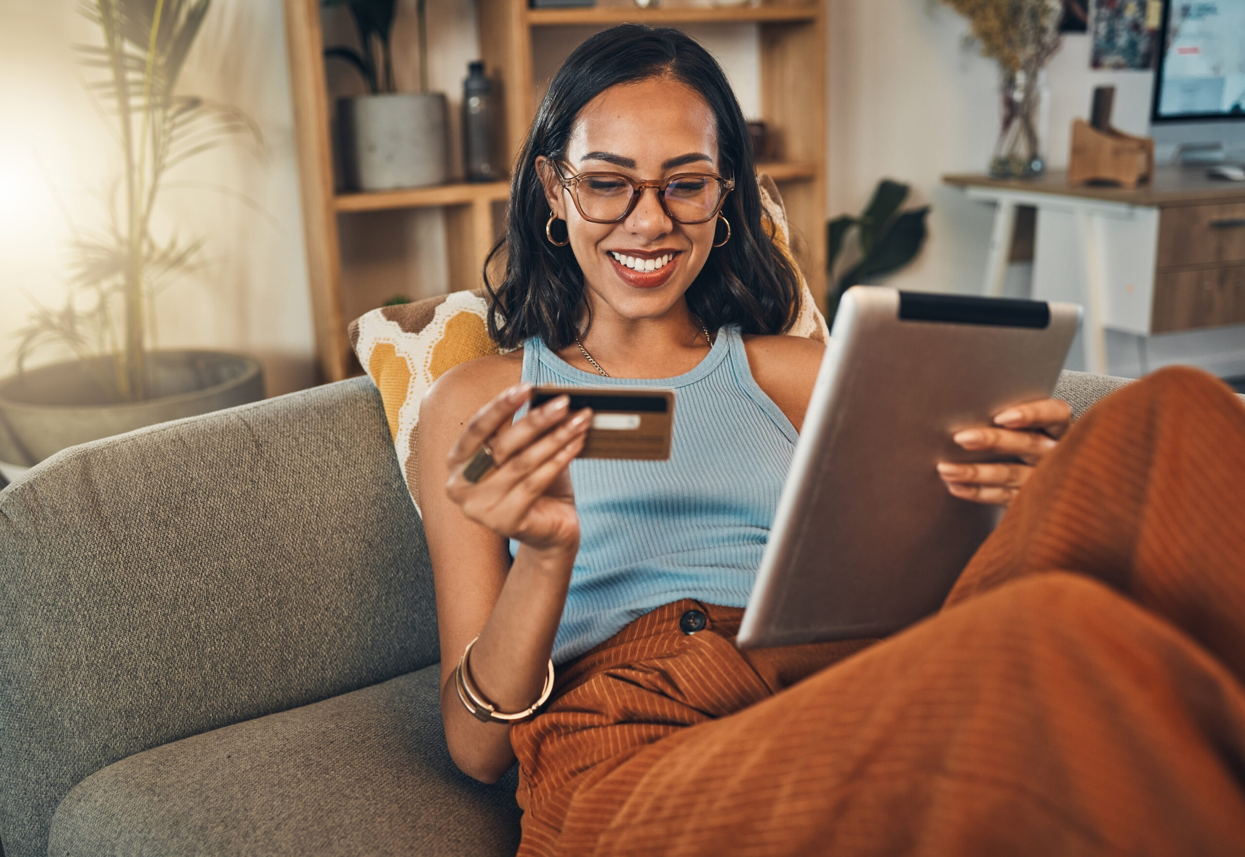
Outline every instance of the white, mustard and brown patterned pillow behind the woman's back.
<path id="1" fill-rule="evenodd" d="M 774 243 L 791 256 L 787 210 L 773 179 L 759 177 L 761 202 L 776 226 Z M 803 287 L 799 315 L 791 336 L 818 342 L 829 340 L 825 318 Z M 390 435 L 406 486 L 420 509 L 418 442 L 420 401 L 446 371 L 477 357 L 500 352 L 488 336 L 484 320 L 488 299 L 483 290 L 458 291 L 415 303 L 382 306 L 350 323 L 350 343 L 364 369 L 381 393 Z M 422 512 L 421 512 L 422 514 Z"/>

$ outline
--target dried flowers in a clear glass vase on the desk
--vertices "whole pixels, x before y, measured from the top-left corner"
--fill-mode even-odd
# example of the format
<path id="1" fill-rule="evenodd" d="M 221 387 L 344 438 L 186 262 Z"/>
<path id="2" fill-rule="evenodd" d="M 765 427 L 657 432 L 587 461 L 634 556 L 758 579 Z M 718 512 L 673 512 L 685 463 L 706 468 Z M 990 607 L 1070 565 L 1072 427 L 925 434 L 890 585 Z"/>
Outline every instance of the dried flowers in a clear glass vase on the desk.
<path id="1" fill-rule="evenodd" d="M 1045 164 L 1035 114 L 1038 72 L 1059 50 L 1066 0 L 942 0 L 969 19 L 981 52 L 1002 72 L 1002 133 L 990 173 L 1033 177 Z"/>

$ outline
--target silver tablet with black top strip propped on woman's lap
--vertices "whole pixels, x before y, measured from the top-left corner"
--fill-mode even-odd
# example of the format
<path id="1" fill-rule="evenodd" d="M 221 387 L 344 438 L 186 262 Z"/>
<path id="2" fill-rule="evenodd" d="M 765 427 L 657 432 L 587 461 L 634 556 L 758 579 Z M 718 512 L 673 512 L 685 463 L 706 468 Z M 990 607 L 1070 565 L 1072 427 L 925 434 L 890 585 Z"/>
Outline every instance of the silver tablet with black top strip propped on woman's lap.
<path id="1" fill-rule="evenodd" d="M 1045 399 L 1081 307 L 849 289 L 834 320 L 738 646 L 880 637 L 935 612 L 998 520 L 951 496 L 951 442 Z"/>

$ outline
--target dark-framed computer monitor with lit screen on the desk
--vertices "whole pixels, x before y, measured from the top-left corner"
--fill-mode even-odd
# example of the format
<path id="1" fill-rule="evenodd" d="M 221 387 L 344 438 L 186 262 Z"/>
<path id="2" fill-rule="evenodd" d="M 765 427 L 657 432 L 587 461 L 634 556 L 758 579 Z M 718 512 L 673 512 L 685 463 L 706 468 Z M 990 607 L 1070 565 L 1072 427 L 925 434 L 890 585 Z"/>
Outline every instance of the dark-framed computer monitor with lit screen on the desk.
<path id="1" fill-rule="evenodd" d="M 1150 121 L 1245 119 L 1245 0 L 1164 0 Z"/>

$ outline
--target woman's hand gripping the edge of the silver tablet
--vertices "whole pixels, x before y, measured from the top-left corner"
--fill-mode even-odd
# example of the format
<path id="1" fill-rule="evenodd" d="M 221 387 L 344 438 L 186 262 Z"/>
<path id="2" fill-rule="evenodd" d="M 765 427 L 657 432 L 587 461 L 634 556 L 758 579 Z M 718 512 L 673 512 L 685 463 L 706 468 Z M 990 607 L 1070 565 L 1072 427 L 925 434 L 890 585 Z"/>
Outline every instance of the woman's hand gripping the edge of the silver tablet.
<path id="1" fill-rule="evenodd" d="M 1058 439 L 1072 427 L 1072 409 L 1059 399 L 1042 399 L 1007 408 L 991 427 L 957 432 L 951 439 L 974 452 L 989 452 L 1020 459 L 986 464 L 937 465 L 939 475 L 952 495 L 974 503 L 1011 505 L 1033 468 L 1051 454 Z"/>

